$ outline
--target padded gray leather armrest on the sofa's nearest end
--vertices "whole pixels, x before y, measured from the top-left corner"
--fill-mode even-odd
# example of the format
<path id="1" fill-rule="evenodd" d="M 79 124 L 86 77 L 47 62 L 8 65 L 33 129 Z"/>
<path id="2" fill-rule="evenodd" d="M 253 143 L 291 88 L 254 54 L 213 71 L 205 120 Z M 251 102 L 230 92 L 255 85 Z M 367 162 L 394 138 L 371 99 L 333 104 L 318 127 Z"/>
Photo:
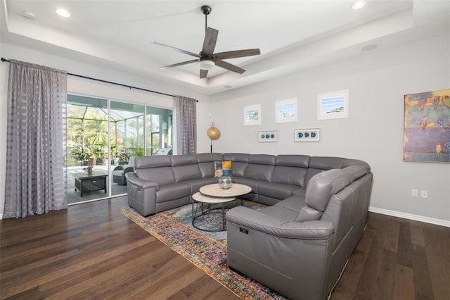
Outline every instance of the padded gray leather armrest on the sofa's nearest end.
<path id="1" fill-rule="evenodd" d="M 286 222 L 243 206 L 231 208 L 226 213 L 226 221 L 268 235 L 290 239 L 329 239 L 334 232 L 333 223 L 330 221 Z"/>

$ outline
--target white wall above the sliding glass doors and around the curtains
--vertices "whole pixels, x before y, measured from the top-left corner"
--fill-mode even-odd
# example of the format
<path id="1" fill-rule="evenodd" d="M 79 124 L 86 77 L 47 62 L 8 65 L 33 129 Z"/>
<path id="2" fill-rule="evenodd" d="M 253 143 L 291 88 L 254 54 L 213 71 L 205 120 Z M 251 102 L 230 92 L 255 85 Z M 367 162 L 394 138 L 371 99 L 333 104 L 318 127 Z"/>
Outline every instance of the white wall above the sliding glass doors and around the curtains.
<path id="1" fill-rule="evenodd" d="M 108 80 L 111 82 L 118 82 L 124 85 L 131 85 L 134 87 L 141 87 L 143 89 L 164 92 L 166 94 L 179 94 L 182 96 L 189 96 L 199 100 L 197 108 L 201 115 L 204 114 L 203 111 L 205 110 L 205 108 L 209 106 L 207 101 L 205 101 L 205 99 L 207 99 L 207 96 L 196 94 L 195 92 L 183 89 L 181 87 L 172 87 L 162 85 L 158 82 L 149 82 L 145 78 L 130 77 L 115 70 L 96 68 L 92 65 L 87 65 L 56 56 L 49 56 L 47 54 L 42 54 L 30 49 L 24 49 L 19 46 L 0 44 L 0 54 L 1 57 L 7 59 L 15 59 L 18 61 L 26 61 L 28 63 L 46 65 L 51 68 L 67 70 L 68 73 L 84 75 L 101 80 Z M 0 63 L 0 218 L 1 215 L 3 215 L 4 211 L 4 191 L 6 179 L 6 107 L 8 92 L 8 70 L 9 63 Z M 101 98 L 131 101 L 162 108 L 174 107 L 174 99 L 171 96 L 163 96 L 160 94 L 143 92 L 139 89 L 129 89 L 127 87 L 119 87 L 117 85 L 110 85 L 108 83 L 86 80 L 74 76 L 68 76 L 68 92 L 84 94 L 88 96 L 98 96 Z M 203 126 L 206 123 L 199 121 L 199 124 Z M 209 151 L 209 148 L 201 149 L 200 151 Z"/>

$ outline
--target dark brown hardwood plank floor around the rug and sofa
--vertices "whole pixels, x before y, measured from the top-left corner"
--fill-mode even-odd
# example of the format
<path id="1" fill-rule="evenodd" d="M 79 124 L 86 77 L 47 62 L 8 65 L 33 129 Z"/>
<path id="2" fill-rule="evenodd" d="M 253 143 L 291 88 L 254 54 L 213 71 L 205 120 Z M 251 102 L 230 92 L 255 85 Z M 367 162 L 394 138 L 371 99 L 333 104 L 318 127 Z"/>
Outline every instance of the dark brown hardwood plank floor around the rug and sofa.
<path id="1" fill-rule="evenodd" d="M 1 299 L 238 299 L 118 208 L 0 220 Z M 450 228 L 370 213 L 338 299 L 450 299 Z"/>

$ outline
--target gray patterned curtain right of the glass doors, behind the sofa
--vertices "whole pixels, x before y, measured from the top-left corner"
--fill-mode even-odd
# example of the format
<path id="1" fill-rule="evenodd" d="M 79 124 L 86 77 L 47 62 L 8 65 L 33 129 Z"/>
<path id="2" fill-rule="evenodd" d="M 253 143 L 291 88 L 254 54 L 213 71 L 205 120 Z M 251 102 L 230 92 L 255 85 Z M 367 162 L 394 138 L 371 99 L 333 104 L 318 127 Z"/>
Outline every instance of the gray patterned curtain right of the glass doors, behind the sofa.
<path id="1" fill-rule="evenodd" d="M 176 96 L 177 154 L 197 153 L 197 100 Z"/>

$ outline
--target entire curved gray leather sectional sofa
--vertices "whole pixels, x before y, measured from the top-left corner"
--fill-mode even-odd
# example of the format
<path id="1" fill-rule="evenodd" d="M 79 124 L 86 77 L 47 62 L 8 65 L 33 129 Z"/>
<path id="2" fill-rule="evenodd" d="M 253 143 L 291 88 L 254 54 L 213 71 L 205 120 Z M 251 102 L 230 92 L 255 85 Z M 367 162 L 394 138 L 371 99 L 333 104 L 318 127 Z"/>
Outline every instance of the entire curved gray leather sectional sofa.
<path id="1" fill-rule="evenodd" d="M 364 161 L 266 154 L 141 156 L 127 173 L 129 206 L 152 215 L 191 203 L 231 161 L 233 182 L 252 187 L 226 213 L 227 263 L 290 299 L 326 299 L 361 238 L 373 174 Z"/>

